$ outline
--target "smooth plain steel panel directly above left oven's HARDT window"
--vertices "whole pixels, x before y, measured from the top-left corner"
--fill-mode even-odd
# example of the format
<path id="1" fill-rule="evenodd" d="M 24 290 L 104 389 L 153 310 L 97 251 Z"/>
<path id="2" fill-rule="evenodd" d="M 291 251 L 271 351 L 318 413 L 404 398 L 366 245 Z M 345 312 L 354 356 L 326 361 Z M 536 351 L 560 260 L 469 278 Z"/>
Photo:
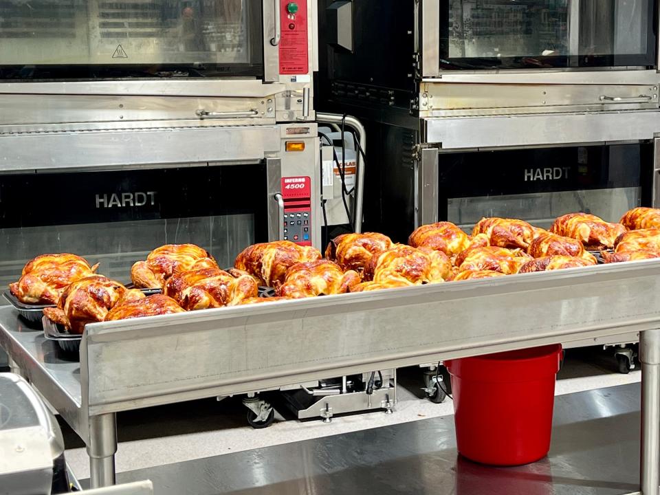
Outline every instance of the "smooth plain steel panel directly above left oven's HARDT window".
<path id="1" fill-rule="evenodd" d="M 0 172 L 258 162 L 278 155 L 278 126 L 0 135 Z"/>

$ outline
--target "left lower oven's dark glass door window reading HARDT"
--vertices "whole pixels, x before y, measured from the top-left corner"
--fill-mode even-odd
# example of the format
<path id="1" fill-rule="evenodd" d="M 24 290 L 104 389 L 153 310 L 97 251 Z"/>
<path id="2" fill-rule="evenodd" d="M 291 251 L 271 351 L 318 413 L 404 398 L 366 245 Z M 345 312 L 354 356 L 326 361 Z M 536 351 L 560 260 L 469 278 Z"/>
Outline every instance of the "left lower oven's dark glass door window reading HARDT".
<path id="1" fill-rule="evenodd" d="M 238 188 L 248 175 L 250 188 Z M 261 165 L 0 177 L 0 284 L 51 252 L 100 263 L 98 273 L 122 283 L 163 244 L 194 243 L 232 267 L 267 241 L 266 187 Z"/>

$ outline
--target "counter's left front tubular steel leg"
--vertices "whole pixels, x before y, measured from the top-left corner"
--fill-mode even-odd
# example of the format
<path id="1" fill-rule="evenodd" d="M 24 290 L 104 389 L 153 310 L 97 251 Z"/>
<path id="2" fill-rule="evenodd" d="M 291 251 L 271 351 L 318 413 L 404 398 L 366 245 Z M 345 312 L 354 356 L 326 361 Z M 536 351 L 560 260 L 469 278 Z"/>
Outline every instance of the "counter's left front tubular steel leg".
<path id="1" fill-rule="evenodd" d="M 89 418 L 89 478 L 92 488 L 115 484 L 117 423 L 114 413 Z"/>

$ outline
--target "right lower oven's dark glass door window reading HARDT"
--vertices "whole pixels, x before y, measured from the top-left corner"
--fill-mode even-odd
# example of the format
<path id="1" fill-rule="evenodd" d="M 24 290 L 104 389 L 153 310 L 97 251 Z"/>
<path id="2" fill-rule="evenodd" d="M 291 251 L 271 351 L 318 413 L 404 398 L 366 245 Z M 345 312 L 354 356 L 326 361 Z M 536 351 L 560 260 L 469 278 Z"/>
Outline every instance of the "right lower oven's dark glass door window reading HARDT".
<path id="1" fill-rule="evenodd" d="M 587 212 L 619 221 L 652 201 L 652 142 L 438 155 L 438 217 L 470 232 L 483 217 L 549 228 Z"/>

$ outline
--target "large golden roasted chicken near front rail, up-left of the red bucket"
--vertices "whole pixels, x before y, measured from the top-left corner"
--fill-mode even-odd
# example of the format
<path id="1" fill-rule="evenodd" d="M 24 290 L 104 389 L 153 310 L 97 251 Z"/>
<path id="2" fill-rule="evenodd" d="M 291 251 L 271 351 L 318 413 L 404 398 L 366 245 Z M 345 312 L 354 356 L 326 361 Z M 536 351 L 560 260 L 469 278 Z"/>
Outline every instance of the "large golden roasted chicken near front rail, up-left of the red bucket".
<path id="1" fill-rule="evenodd" d="M 391 281 L 421 285 L 439 283 L 452 275 L 452 263 L 446 254 L 431 248 L 412 248 L 395 244 L 372 256 L 364 277 L 375 283 Z"/>

